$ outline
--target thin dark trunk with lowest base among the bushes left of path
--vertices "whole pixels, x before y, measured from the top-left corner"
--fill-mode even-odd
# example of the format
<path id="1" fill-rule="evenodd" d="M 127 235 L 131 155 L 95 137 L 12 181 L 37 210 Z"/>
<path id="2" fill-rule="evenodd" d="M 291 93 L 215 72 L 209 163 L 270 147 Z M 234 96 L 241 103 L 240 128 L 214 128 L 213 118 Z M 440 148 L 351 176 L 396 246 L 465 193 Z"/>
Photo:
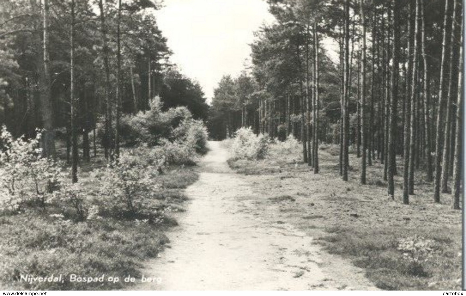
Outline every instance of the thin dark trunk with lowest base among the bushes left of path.
<path id="1" fill-rule="evenodd" d="M 70 106 L 71 106 L 71 182 L 78 182 L 78 137 L 76 128 L 76 99 L 75 99 L 75 0 L 71 0 L 71 37 L 70 37 Z"/>

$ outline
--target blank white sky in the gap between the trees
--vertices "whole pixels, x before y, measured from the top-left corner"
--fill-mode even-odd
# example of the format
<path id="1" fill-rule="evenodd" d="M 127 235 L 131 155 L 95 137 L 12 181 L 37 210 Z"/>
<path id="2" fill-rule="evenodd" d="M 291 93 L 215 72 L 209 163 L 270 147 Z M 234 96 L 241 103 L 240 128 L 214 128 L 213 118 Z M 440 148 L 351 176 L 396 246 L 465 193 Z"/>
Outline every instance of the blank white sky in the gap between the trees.
<path id="1" fill-rule="evenodd" d="M 199 81 L 208 102 L 223 75 L 244 69 L 253 32 L 274 20 L 265 0 L 164 0 L 156 16 L 171 62 Z"/>

